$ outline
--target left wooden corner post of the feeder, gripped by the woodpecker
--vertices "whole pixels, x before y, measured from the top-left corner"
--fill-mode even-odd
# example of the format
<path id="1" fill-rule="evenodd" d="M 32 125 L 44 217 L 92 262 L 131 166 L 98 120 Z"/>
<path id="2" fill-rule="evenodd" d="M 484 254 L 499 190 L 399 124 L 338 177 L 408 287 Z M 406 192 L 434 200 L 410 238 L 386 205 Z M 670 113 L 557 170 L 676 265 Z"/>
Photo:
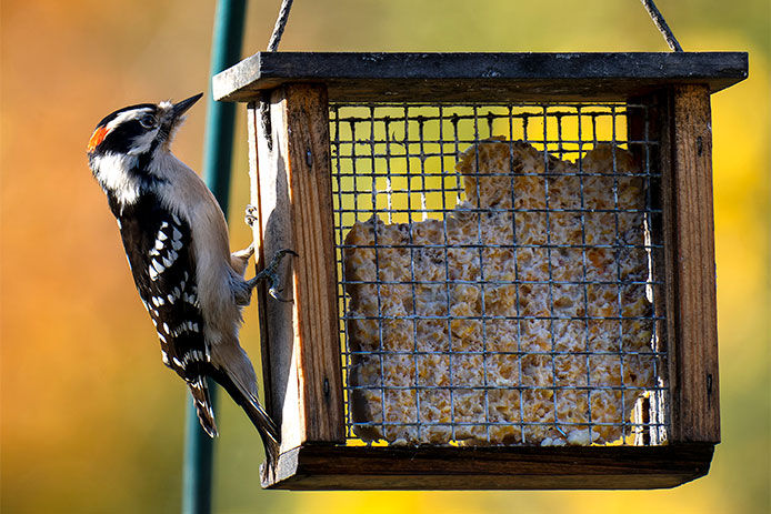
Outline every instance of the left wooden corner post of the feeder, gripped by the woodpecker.
<path id="1" fill-rule="evenodd" d="M 344 442 L 327 88 L 286 84 L 248 108 L 259 259 L 287 258 L 282 296 L 258 292 L 266 400 L 281 452 Z M 259 162 L 258 162 L 259 161 Z M 291 272 L 291 273 L 290 273 Z"/>

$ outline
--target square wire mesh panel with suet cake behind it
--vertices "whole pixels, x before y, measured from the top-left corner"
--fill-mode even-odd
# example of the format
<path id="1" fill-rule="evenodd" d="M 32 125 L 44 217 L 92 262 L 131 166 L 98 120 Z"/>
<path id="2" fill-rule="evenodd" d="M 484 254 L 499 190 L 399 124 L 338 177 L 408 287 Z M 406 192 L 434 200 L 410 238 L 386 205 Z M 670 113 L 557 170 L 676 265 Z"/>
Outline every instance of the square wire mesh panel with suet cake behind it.
<path id="1" fill-rule="evenodd" d="M 349 444 L 665 441 L 650 117 L 625 103 L 330 105 Z M 602 148 L 604 168 L 590 164 Z M 494 149 L 508 155 L 497 168 Z"/>

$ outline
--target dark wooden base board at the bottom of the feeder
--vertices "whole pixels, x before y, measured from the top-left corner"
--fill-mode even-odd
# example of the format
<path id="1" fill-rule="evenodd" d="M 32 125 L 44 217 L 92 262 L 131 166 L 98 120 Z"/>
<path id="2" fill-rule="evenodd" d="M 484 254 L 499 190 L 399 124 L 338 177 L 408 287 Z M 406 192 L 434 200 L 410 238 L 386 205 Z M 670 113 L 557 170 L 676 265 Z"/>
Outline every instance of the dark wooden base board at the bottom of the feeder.
<path id="1" fill-rule="evenodd" d="M 707 474 L 711 444 L 677 446 L 387 447 L 304 445 L 263 487 L 542 490 L 673 487 Z"/>

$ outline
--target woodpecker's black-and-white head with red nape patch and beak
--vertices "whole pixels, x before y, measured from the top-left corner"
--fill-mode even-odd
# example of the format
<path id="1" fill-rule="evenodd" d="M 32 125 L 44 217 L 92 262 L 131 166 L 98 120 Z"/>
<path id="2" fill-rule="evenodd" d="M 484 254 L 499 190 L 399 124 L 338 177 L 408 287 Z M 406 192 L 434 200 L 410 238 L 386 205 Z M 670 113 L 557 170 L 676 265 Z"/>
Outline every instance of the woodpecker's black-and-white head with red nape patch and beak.
<path id="1" fill-rule="evenodd" d="M 178 103 L 139 103 L 107 115 L 97 124 L 88 144 L 88 154 L 131 154 L 151 152 L 168 144 L 183 114 L 203 93 Z"/>

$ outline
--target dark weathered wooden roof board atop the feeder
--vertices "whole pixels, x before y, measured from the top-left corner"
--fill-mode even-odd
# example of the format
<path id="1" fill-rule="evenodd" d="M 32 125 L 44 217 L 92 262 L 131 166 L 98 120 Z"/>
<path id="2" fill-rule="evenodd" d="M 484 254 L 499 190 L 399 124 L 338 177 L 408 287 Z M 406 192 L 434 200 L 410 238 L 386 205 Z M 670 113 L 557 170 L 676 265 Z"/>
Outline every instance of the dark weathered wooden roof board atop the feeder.
<path id="1" fill-rule="evenodd" d="M 252 101 L 287 82 L 334 101 L 624 101 L 670 84 L 720 91 L 748 77 L 745 52 L 258 52 L 214 75 L 216 100 Z"/>

